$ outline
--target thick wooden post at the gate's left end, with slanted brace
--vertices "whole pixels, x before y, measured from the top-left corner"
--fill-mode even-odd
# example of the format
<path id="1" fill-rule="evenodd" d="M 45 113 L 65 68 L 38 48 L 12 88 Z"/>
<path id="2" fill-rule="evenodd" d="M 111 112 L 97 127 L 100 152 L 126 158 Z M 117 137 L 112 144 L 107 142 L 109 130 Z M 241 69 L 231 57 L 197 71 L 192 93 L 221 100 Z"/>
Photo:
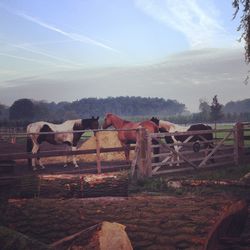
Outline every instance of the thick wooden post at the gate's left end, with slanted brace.
<path id="1" fill-rule="evenodd" d="M 137 165 L 133 178 L 144 180 L 152 176 L 151 165 L 151 138 L 145 128 L 140 127 L 137 130 Z"/>

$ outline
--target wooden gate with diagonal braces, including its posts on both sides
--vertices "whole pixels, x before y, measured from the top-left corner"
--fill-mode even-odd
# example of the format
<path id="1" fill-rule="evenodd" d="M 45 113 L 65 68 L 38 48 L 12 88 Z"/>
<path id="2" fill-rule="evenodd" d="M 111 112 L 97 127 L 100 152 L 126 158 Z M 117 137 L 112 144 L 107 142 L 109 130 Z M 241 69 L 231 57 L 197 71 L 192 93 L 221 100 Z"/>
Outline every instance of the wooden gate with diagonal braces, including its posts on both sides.
<path id="1" fill-rule="evenodd" d="M 205 134 L 213 133 L 212 140 L 205 140 Z M 132 163 L 132 175 L 136 179 L 192 169 L 212 168 L 223 165 L 239 165 L 250 159 L 250 123 L 237 123 L 232 129 L 189 131 L 176 133 L 148 134 L 143 128 L 138 132 L 137 157 Z M 166 143 L 165 136 L 184 135 L 184 142 Z M 200 150 L 194 152 L 191 138 L 200 136 Z M 216 136 L 215 136 L 216 135 Z M 158 145 L 152 144 L 157 140 Z M 205 145 L 213 144 L 205 149 Z M 174 147 L 178 146 L 180 151 Z M 158 148 L 157 154 L 153 149 Z M 158 159 L 156 161 L 156 159 Z"/>

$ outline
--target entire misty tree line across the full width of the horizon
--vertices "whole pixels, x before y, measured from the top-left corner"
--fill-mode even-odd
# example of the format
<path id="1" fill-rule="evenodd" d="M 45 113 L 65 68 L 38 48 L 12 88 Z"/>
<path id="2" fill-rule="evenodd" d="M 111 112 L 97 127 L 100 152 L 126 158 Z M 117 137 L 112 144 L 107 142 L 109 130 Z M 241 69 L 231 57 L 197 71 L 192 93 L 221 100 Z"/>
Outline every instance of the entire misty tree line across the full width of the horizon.
<path id="1" fill-rule="evenodd" d="M 90 116 L 103 117 L 112 112 L 130 120 L 158 116 L 175 123 L 214 123 L 250 121 L 250 99 L 219 103 L 215 95 L 211 103 L 200 100 L 199 112 L 190 113 L 185 104 L 176 100 L 144 97 L 83 98 L 74 102 L 16 100 L 10 107 L 0 104 L 0 126 L 26 126 L 32 121 L 59 123 Z"/>

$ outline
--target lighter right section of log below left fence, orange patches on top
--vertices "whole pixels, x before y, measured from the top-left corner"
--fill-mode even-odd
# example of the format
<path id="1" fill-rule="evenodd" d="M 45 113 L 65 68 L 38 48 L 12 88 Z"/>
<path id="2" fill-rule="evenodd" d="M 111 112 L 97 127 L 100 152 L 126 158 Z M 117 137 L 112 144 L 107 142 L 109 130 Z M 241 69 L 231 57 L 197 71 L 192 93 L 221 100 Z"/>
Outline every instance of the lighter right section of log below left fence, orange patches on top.
<path id="1" fill-rule="evenodd" d="M 40 176 L 39 197 L 128 196 L 128 173 Z"/>

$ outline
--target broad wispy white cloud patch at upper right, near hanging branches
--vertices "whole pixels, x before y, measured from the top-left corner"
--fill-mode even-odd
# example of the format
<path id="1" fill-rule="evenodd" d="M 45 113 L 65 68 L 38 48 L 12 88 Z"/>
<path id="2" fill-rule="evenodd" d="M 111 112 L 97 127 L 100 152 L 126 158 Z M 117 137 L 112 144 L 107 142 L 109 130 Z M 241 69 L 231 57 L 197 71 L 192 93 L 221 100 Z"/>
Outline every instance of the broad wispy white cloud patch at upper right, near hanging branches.
<path id="1" fill-rule="evenodd" d="M 155 20 L 180 31 L 191 48 L 232 42 L 218 20 L 218 11 L 212 5 L 202 8 L 201 3 L 203 7 L 206 4 L 203 0 L 135 0 L 135 3 Z"/>

